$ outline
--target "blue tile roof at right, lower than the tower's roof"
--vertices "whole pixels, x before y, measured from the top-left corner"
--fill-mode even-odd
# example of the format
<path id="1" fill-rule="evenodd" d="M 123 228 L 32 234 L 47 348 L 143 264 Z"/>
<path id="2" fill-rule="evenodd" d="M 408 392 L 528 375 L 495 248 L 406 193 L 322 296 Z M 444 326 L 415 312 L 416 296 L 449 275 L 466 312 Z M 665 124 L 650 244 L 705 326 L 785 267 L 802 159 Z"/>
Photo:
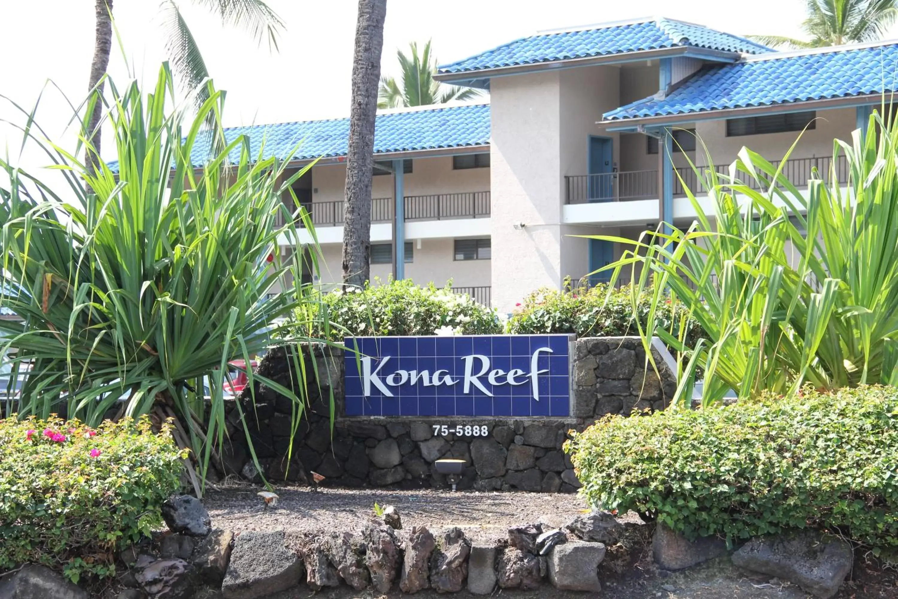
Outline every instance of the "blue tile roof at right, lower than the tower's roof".
<path id="1" fill-rule="evenodd" d="M 895 90 L 898 44 L 749 57 L 712 66 L 666 98 L 606 112 L 606 121 L 643 119 L 878 94 Z"/>

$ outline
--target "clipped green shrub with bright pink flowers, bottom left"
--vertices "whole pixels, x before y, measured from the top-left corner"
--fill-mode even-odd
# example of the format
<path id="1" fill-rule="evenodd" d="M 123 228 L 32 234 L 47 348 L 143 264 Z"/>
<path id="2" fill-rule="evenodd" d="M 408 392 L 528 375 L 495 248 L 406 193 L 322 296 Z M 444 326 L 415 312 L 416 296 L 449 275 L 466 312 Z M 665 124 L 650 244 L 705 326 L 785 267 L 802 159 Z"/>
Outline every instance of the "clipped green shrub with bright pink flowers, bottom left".
<path id="1" fill-rule="evenodd" d="M 162 524 L 180 487 L 170 427 L 59 418 L 0 420 L 0 570 L 25 562 L 84 574 L 115 573 L 115 552 Z"/>

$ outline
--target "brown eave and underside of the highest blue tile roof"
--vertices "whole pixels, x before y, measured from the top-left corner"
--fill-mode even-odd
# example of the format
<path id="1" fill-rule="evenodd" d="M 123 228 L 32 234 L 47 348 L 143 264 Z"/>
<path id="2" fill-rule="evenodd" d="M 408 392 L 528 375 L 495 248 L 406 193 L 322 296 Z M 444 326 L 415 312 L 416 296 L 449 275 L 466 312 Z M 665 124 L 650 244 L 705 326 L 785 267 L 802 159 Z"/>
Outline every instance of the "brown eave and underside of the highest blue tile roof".
<path id="1" fill-rule="evenodd" d="M 653 50 L 640 50 L 638 52 L 621 52 L 619 54 L 606 54 L 600 57 L 568 58 L 564 60 L 548 60 L 530 65 L 499 66 L 497 68 L 483 68 L 458 73 L 437 73 L 434 79 L 446 84 L 466 85 L 489 89 L 489 80 L 493 77 L 506 75 L 524 75 L 541 71 L 555 71 L 563 68 L 577 68 L 580 66 L 597 65 L 621 65 L 631 62 L 642 62 L 656 58 L 687 57 L 710 60 L 720 63 L 735 63 L 742 58 L 738 52 L 724 52 L 694 46 L 679 46 L 676 48 L 657 48 Z"/>

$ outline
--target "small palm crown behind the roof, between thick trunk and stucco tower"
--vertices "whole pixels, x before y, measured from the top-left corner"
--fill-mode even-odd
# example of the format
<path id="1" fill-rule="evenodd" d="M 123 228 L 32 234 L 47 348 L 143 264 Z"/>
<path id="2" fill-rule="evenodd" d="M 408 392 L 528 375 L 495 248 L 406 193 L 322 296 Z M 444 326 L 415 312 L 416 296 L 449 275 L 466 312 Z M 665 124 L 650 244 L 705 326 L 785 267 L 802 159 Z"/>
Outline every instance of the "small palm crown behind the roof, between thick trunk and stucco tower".
<path id="1" fill-rule="evenodd" d="M 480 95 L 479 90 L 443 85 L 434 79 L 436 58 L 430 55 L 430 40 L 427 40 L 420 55 L 417 43 L 413 41 L 409 46 L 410 58 L 402 50 L 396 52 L 401 69 L 401 82 L 396 81 L 395 77 L 381 79 L 377 108 L 445 104 L 453 100 L 471 100 Z"/>

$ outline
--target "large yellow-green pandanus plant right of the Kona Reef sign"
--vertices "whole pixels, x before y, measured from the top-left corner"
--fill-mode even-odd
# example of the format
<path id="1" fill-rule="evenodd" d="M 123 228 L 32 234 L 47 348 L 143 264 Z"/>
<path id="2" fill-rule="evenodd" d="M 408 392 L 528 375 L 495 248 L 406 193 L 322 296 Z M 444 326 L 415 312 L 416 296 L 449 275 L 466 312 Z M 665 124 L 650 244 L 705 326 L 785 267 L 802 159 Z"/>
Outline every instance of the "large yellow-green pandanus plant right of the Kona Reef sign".
<path id="1" fill-rule="evenodd" d="M 703 405 L 729 390 L 898 383 L 898 129 L 887 122 L 874 111 L 850 142 L 835 140 L 807 189 L 782 172 L 797 142 L 779 163 L 743 148 L 727 174 L 693 165 L 711 209 L 686 189 L 698 214 L 688 228 L 598 237 L 627 246 L 607 268 L 633 277 L 634 303 L 653 294 L 647 326 L 637 322 L 644 343 L 656 335 L 682 352 L 677 404 L 691 402 L 700 371 Z M 656 326 L 670 301 L 704 339 L 689 346 Z"/>

